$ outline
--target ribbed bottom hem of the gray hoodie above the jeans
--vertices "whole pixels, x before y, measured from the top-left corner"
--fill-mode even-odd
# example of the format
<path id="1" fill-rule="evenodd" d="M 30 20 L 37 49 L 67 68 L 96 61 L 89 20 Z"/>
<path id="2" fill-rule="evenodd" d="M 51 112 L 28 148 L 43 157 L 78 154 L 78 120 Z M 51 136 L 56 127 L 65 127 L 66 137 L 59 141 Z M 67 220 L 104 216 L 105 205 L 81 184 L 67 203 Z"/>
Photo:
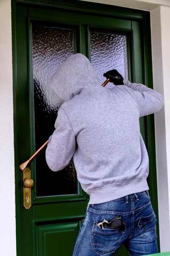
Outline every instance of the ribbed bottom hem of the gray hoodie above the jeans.
<path id="1" fill-rule="evenodd" d="M 147 177 L 133 179 L 127 183 L 115 184 L 113 186 L 92 190 L 89 192 L 90 200 L 88 204 L 101 204 L 122 198 L 126 195 L 143 192 L 148 189 Z"/>

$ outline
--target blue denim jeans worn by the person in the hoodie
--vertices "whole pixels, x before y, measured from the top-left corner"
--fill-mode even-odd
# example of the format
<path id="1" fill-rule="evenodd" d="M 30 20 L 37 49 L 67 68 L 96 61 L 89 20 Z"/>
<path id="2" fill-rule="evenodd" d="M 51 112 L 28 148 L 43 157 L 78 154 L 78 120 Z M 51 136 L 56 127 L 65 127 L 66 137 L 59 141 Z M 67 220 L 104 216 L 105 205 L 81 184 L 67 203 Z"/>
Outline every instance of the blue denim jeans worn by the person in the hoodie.
<path id="1" fill-rule="evenodd" d="M 126 226 L 98 227 L 100 221 L 121 215 Z M 73 256 L 113 256 L 122 244 L 130 256 L 158 253 L 156 215 L 147 192 L 140 192 L 102 204 L 90 204 L 79 230 Z"/>

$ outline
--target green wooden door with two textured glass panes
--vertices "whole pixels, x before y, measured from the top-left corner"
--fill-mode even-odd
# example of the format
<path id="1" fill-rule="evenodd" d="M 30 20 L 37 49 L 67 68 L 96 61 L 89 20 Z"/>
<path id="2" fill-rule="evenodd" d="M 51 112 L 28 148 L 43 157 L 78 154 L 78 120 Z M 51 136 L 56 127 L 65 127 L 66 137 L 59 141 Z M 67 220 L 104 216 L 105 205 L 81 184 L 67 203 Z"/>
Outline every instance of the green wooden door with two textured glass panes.
<path id="1" fill-rule="evenodd" d="M 127 15 L 124 9 L 112 8 L 113 15 L 108 6 L 96 5 L 100 11 L 95 12 L 88 10 L 87 3 L 78 2 L 58 7 L 16 4 L 17 256 L 72 256 L 89 200 L 77 181 L 73 161 L 64 170 L 52 172 L 43 150 L 28 166 L 34 180 L 32 205 L 30 209 L 23 207 L 23 174 L 18 164 L 25 162 L 54 131 L 62 101 L 48 82 L 59 64 L 81 52 L 91 59 L 100 84 L 105 81 L 102 74 L 113 68 L 130 81 L 144 83 L 149 79 L 146 71 L 150 67 L 144 62 L 144 12 L 135 16 L 133 11 Z M 140 120 L 147 148 L 151 121 Z"/>

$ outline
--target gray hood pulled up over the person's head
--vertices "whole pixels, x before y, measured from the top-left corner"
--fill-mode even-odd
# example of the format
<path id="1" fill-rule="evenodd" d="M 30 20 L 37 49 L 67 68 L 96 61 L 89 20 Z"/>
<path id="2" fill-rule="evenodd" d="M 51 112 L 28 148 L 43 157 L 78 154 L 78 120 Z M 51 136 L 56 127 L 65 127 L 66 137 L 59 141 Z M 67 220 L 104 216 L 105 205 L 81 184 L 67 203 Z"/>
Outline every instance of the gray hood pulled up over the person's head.
<path id="1" fill-rule="evenodd" d="M 99 86 L 98 78 L 88 58 L 81 53 L 69 56 L 50 79 L 50 86 L 63 101 L 72 99 L 85 88 Z"/>

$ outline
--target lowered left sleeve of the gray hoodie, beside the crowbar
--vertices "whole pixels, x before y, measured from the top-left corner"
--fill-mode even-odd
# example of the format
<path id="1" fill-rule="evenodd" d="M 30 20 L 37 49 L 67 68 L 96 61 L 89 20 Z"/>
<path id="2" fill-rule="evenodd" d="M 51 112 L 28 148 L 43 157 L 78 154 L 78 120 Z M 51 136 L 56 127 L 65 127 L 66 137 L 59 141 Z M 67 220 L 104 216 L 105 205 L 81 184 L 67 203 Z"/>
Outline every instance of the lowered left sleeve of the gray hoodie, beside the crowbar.
<path id="1" fill-rule="evenodd" d="M 45 152 L 49 168 L 57 172 L 70 163 L 76 148 L 76 141 L 71 124 L 60 108 L 54 127 L 56 130 L 50 136 Z"/>

